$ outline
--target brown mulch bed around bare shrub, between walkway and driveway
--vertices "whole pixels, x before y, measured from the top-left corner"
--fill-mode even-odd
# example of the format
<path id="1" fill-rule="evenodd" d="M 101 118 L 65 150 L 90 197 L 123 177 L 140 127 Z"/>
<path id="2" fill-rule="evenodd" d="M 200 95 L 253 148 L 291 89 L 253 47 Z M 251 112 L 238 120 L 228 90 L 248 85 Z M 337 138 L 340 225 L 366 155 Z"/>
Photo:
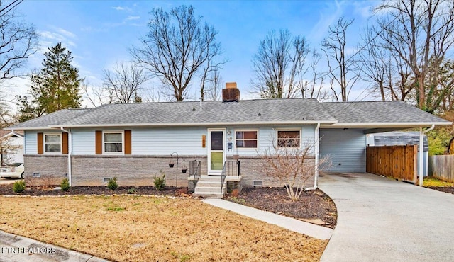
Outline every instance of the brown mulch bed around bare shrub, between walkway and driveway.
<path id="1" fill-rule="evenodd" d="M 336 227 L 337 210 L 333 200 L 321 190 L 304 191 L 299 200 L 292 201 L 285 188 L 243 188 L 236 197 L 226 200 L 266 210 L 299 220 L 320 219 L 324 227 Z"/>

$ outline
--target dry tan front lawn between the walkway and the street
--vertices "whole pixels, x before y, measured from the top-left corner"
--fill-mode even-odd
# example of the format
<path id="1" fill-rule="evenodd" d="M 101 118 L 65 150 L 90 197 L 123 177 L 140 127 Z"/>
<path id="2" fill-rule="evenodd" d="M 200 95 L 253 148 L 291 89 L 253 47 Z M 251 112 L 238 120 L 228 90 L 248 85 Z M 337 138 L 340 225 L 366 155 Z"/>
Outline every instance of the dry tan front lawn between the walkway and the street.
<path id="1" fill-rule="evenodd" d="M 199 200 L 0 196 L 0 229 L 113 261 L 319 261 L 328 241 Z"/>

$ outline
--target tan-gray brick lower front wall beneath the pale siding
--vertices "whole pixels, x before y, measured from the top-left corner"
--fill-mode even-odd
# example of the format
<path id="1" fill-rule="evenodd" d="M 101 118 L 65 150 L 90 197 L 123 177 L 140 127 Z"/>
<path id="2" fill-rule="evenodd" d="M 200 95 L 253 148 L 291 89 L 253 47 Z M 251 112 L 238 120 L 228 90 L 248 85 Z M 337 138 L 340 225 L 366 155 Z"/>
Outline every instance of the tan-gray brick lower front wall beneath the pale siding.
<path id="1" fill-rule="evenodd" d="M 201 161 L 201 175 L 206 175 L 206 156 L 179 156 L 177 169 L 176 158 L 170 156 L 71 156 L 72 159 L 72 186 L 106 186 L 103 178 L 118 179 L 118 186 L 153 186 L 155 176 L 161 176 L 160 171 L 165 173 L 167 186 L 179 186 L 193 188 L 191 181 L 188 181 L 189 170 L 182 173 L 183 159 L 189 169 L 189 161 Z M 227 156 L 227 159 L 233 159 Z M 169 167 L 170 160 L 175 161 L 173 168 Z M 262 186 L 279 187 L 283 186 L 276 178 L 262 175 L 264 163 L 260 156 L 240 156 L 241 185 L 229 184 L 230 189 L 253 187 L 253 181 L 262 181 Z M 314 161 L 314 159 L 310 159 Z M 25 176 L 32 176 L 33 173 L 40 173 L 41 176 L 54 176 L 55 181 L 60 184 L 67 173 L 67 156 L 65 155 L 25 155 L 24 156 Z M 178 183 L 176 183 L 178 172 Z M 314 186 L 314 176 L 306 181 L 305 187 Z"/>

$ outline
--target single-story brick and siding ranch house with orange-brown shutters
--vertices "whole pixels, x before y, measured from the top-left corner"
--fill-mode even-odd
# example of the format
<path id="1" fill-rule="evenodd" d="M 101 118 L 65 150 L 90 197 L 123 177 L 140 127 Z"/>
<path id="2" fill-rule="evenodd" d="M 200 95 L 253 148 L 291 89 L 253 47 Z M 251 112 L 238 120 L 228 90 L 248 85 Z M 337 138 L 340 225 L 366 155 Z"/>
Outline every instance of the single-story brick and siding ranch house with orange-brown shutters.
<path id="1" fill-rule="evenodd" d="M 450 124 L 399 101 L 242 101 L 235 83 L 226 86 L 223 101 L 60 110 L 8 129 L 25 132 L 26 176 L 67 175 L 72 186 L 105 185 L 116 176 L 121 186 L 143 186 L 162 171 L 167 185 L 187 186 L 188 175 L 169 167 L 175 153 L 179 169 L 201 161 L 202 176 L 221 174 L 238 154 L 241 176 L 226 180 L 250 187 L 282 186 L 262 175 L 267 167 L 260 157 L 282 142 L 315 144 L 311 161 L 331 156 L 330 171 L 365 172 L 366 134 Z M 317 177 L 314 170 L 306 186 L 316 186 Z"/>

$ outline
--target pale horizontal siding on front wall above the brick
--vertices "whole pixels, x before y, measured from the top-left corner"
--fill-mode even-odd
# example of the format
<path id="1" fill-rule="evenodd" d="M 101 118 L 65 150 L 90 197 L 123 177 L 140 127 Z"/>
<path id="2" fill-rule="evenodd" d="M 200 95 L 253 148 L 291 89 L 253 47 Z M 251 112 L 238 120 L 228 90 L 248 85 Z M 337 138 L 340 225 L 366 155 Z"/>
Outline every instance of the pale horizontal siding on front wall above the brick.
<path id="1" fill-rule="evenodd" d="M 202 147 L 202 135 L 208 135 L 209 127 L 135 127 L 131 130 L 131 147 L 135 155 L 170 155 L 177 152 L 179 155 L 206 155 L 206 147 Z M 233 144 L 231 151 L 226 150 L 226 155 L 240 154 L 243 156 L 258 156 L 258 152 L 263 153 L 266 149 L 272 149 L 272 137 L 276 136 L 278 129 L 301 130 L 301 144 L 306 141 L 314 141 L 315 125 L 303 126 L 231 126 L 231 127 L 212 127 L 226 128 L 231 131 L 231 135 L 226 134 L 226 145 Z M 72 132 L 72 154 L 73 155 L 94 155 L 95 154 L 95 132 L 118 131 L 118 127 L 111 128 L 73 128 Z M 258 148 L 238 148 L 235 147 L 236 130 L 257 131 Z M 37 135 L 36 131 L 26 132 L 26 154 L 37 154 Z M 45 132 L 46 134 L 48 132 Z M 229 139 L 231 137 L 231 139 Z M 208 138 L 208 137 L 207 137 Z M 206 144 L 208 146 L 208 144 Z M 104 147 L 104 144 L 103 144 Z"/>

